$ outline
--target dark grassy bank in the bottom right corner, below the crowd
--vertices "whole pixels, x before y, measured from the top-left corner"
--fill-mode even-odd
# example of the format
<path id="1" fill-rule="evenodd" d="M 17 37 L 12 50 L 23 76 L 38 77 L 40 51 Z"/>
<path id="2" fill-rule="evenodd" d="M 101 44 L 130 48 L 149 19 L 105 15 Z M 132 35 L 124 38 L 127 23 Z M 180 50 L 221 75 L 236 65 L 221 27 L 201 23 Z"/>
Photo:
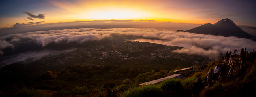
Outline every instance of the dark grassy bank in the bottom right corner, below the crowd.
<path id="1" fill-rule="evenodd" d="M 248 66 L 245 67 L 248 72 L 244 72 L 244 78 L 216 83 L 211 88 L 203 89 L 201 97 L 255 97 L 253 88 L 256 86 L 256 62 L 245 66 Z"/>

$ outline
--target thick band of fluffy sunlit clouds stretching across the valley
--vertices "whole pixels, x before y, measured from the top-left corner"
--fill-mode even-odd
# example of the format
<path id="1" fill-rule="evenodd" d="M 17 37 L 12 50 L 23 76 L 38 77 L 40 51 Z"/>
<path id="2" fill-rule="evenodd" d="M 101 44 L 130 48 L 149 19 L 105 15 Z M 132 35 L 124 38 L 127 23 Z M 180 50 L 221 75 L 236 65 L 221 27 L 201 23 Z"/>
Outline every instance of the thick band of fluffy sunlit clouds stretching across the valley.
<path id="1" fill-rule="evenodd" d="M 256 42 L 250 39 L 237 37 L 213 36 L 205 34 L 194 34 L 188 32 L 178 32 L 174 30 L 139 29 L 139 28 L 111 28 L 111 29 L 64 29 L 35 31 L 19 34 L 10 34 L 0 37 L 0 53 L 6 47 L 14 48 L 13 43 L 22 39 L 30 39 L 38 45 L 46 46 L 51 42 L 77 42 L 83 43 L 92 40 L 102 40 L 104 38 L 114 38 L 113 34 L 133 36 L 136 41 L 153 42 L 171 46 L 182 46 L 184 48 L 174 50 L 176 53 L 186 53 L 190 55 L 200 55 L 211 59 L 218 58 L 226 51 L 247 47 L 252 51 L 256 48 Z M 12 38 L 9 41 L 5 39 Z M 154 39 L 154 40 L 152 40 Z"/>

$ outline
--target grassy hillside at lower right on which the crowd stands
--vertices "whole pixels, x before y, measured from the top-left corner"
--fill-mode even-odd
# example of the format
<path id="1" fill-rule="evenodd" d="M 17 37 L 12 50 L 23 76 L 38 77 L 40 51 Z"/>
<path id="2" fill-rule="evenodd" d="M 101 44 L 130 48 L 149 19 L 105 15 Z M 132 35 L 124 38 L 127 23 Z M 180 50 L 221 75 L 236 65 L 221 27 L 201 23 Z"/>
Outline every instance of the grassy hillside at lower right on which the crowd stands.
<path id="1" fill-rule="evenodd" d="M 249 62 L 243 66 L 242 77 L 237 78 L 237 70 L 239 67 L 238 57 L 235 57 L 233 61 L 235 64 L 235 70 L 231 78 L 226 78 L 228 73 L 228 66 L 226 68 L 226 74 L 222 81 L 214 82 L 209 88 L 204 88 L 200 92 L 200 97 L 255 97 L 254 87 L 256 86 L 256 62 L 253 65 L 249 65 Z M 203 85 L 206 85 L 207 72 L 217 64 L 223 64 L 223 61 L 217 60 L 211 63 L 205 64 L 203 70 L 201 67 L 194 67 L 197 72 L 192 73 L 186 79 L 169 79 L 158 84 L 151 84 L 149 86 L 130 88 L 129 90 L 121 93 L 122 97 L 145 97 L 146 93 L 155 93 L 156 97 L 188 97 L 192 95 L 192 88 L 199 77 L 202 78 Z M 184 72 L 180 72 L 183 74 Z M 147 88 L 153 88 L 158 92 L 153 92 Z"/>

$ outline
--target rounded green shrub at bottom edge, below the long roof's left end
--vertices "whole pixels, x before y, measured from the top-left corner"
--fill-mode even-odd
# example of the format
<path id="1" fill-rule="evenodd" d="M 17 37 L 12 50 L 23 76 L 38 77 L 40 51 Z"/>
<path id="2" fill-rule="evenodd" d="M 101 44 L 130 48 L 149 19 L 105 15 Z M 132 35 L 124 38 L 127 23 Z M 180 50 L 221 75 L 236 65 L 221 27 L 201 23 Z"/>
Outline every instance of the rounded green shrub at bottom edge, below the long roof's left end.
<path id="1" fill-rule="evenodd" d="M 161 92 L 158 86 L 148 85 L 126 91 L 122 97 L 162 97 Z"/>

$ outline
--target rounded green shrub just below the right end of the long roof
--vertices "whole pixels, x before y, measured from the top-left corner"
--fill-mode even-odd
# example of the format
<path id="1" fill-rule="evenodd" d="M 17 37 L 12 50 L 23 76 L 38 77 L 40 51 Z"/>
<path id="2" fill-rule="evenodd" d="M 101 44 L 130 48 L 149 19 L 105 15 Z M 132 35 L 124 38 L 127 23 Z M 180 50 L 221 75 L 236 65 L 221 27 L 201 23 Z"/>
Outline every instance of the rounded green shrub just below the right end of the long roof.
<path id="1" fill-rule="evenodd" d="M 160 84 L 160 87 L 164 91 L 177 91 L 183 88 L 180 79 L 168 79 Z"/>

